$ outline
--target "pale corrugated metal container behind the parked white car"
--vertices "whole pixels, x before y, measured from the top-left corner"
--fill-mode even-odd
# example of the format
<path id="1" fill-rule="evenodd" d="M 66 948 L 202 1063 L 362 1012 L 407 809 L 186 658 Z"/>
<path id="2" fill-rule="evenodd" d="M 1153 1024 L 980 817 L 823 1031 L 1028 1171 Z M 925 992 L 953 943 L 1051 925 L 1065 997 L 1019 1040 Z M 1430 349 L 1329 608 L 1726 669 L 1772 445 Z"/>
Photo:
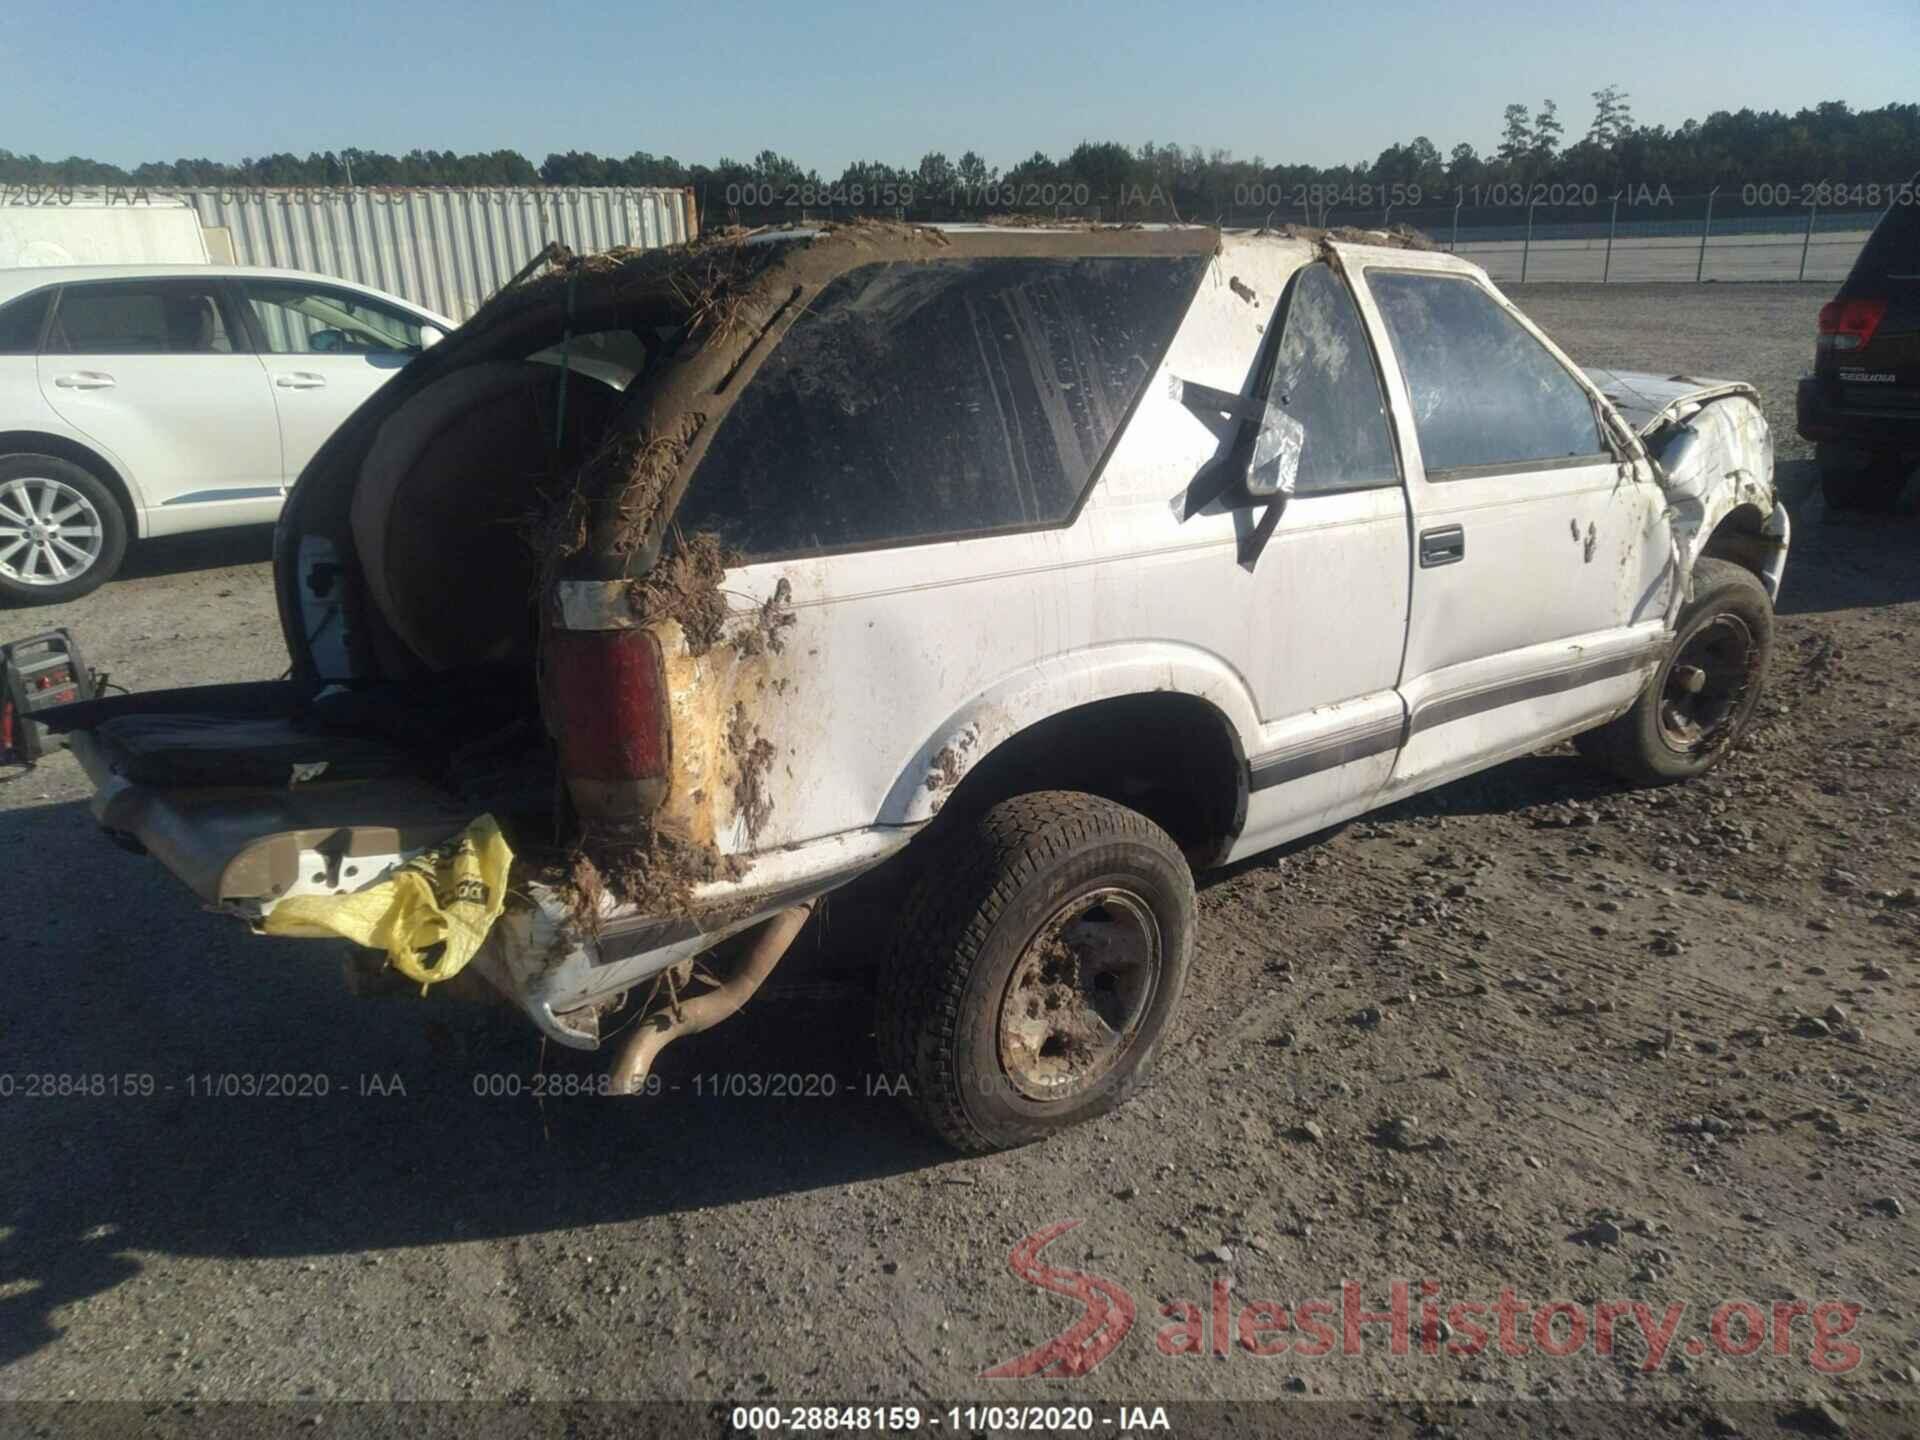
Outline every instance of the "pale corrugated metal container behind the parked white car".
<path id="1" fill-rule="evenodd" d="M 655 248 L 697 232 L 687 190 L 188 188 L 215 261 L 357 280 L 455 321 L 549 240 L 576 252 Z"/>

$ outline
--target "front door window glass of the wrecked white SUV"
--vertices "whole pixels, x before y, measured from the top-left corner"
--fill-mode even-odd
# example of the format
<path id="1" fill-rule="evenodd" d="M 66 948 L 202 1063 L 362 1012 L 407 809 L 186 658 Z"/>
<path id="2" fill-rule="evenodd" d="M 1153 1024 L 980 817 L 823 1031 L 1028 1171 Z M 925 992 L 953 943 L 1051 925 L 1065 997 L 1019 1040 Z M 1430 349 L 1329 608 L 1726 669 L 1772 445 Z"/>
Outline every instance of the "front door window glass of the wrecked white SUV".
<path id="1" fill-rule="evenodd" d="M 1369 271 L 1427 472 L 1605 455 L 1586 390 L 1478 284 Z"/>

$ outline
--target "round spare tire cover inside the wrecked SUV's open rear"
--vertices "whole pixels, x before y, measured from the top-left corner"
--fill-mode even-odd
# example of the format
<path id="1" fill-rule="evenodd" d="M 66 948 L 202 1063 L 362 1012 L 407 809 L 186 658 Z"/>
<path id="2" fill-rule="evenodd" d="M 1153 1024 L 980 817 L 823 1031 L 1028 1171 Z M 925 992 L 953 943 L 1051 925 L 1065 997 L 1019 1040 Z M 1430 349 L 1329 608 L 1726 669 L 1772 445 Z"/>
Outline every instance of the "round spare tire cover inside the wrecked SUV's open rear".
<path id="1" fill-rule="evenodd" d="M 620 392 L 561 371 L 486 363 L 426 386 L 388 417 L 361 465 L 349 520 L 367 591 L 430 670 L 530 659 L 532 516 L 570 482 Z"/>

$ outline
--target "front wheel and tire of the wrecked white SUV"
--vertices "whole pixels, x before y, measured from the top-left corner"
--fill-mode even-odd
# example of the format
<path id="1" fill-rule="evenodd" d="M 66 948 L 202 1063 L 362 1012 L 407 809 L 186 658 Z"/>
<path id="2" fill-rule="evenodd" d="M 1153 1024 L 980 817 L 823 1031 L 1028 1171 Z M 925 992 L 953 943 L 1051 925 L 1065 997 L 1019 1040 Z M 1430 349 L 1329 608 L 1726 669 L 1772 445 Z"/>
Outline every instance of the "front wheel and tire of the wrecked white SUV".
<path id="1" fill-rule="evenodd" d="M 1693 599 L 1653 680 L 1632 710 L 1574 745 L 1638 785 L 1703 776 L 1753 718 L 1772 649 L 1774 605 L 1753 572 L 1732 561 L 1695 561 Z"/>

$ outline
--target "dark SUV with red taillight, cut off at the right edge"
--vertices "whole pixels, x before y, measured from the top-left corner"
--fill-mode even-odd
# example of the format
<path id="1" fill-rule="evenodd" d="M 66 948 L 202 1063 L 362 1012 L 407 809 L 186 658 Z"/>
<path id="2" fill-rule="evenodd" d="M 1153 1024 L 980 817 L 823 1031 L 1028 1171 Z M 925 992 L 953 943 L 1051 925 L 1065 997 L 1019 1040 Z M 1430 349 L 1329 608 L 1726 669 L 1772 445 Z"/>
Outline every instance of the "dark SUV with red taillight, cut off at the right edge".
<path id="1" fill-rule="evenodd" d="M 1820 307 L 1799 432 L 1816 445 L 1834 509 L 1891 507 L 1920 463 L 1920 182 L 1895 200 Z"/>

